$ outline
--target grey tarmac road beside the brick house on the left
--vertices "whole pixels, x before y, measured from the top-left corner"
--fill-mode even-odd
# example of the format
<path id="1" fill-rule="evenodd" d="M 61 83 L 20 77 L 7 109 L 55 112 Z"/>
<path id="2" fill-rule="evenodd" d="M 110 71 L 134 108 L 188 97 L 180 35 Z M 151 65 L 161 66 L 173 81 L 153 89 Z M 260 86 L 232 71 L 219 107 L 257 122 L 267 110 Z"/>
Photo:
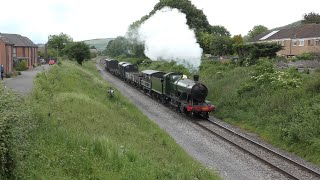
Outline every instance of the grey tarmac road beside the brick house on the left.
<path id="1" fill-rule="evenodd" d="M 14 92 L 26 96 L 32 92 L 33 78 L 40 72 L 49 69 L 49 65 L 41 65 L 32 70 L 22 71 L 21 75 L 13 78 L 5 78 L 4 85 Z"/>

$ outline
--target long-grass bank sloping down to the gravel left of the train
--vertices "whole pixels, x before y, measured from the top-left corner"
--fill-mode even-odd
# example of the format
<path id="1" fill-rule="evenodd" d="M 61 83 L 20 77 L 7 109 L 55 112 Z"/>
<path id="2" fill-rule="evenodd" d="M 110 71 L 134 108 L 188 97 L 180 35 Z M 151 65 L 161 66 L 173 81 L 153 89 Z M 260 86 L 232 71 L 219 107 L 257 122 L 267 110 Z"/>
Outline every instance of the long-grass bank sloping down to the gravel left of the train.
<path id="1" fill-rule="evenodd" d="M 216 179 L 118 91 L 92 62 L 39 74 L 23 179 Z"/>

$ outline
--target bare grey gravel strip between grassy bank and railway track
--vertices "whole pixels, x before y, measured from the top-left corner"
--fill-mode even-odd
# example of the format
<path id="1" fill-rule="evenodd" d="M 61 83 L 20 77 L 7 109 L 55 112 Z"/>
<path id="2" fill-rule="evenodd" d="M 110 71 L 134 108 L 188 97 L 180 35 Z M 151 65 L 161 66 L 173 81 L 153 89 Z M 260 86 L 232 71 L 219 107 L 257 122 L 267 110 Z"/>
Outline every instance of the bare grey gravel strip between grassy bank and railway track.
<path id="1" fill-rule="evenodd" d="M 209 169 L 220 173 L 224 179 L 288 179 L 268 165 L 190 122 L 186 116 L 169 110 L 105 72 L 101 64 L 97 64 L 97 68 L 105 80 L 170 134 L 187 153 Z"/>

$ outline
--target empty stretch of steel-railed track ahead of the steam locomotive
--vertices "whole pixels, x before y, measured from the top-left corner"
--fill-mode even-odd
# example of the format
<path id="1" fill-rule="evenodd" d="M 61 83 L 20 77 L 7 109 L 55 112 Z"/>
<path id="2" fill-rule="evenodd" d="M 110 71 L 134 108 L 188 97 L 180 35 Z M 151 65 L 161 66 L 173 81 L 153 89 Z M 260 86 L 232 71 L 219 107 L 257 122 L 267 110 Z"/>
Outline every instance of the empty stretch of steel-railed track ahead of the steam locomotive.
<path id="1" fill-rule="evenodd" d="M 191 120 L 191 122 L 276 169 L 289 179 L 320 179 L 320 171 L 315 167 L 301 164 L 264 144 L 221 125 L 212 118 L 208 120 Z"/>

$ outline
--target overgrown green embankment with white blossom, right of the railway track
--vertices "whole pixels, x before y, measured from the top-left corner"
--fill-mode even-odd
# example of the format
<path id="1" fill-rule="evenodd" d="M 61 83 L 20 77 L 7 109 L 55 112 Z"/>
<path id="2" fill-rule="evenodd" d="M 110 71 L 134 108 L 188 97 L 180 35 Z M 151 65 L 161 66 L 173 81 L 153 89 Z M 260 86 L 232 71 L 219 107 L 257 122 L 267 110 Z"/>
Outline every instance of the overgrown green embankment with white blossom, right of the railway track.
<path id="1" fill-rule="evenodd" d="M 320 165 L 320 73 L 277 70 L 270 61 L 203 62 L 200 79 L 218 107 L 215 116 Z"/>

